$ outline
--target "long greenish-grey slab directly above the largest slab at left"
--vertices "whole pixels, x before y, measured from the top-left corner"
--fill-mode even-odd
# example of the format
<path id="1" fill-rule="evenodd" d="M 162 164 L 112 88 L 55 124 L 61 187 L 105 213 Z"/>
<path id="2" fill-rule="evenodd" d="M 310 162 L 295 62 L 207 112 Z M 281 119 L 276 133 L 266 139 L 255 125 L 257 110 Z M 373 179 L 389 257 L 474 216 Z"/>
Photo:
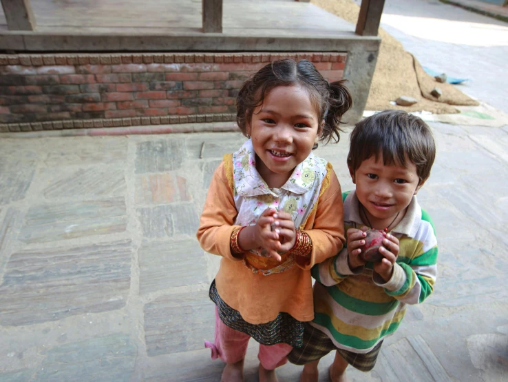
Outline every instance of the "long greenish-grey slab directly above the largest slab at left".
<path id="1" fill-rule="evenodd" d="M 41 204 L 28 210 L 19 240 L 45 243 L 124 232 L 126 227 L 123 198 Z"/>

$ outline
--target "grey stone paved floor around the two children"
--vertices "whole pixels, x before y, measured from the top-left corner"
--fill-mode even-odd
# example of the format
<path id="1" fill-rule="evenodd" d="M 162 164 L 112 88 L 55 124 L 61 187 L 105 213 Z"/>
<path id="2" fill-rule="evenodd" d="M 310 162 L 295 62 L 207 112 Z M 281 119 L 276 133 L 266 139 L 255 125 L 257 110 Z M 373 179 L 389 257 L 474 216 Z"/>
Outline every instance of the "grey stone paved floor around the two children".
<path id="1" fill-rule="evenodd" d="M 492 87 L 492 100 L 504 91 Z M 419 201 L 438 234 L 436 292 L 353 381 L 508 374 L 508 125 L 431 126 L 438 155 Z M 348 132 L 317 151 L 343 190 Z M 207 289 L 219 259 L 195 230 L 213 170 L 242 141 L 233 132 L 0 137 L 0 382 L 219 381 L 223 364 L 202 345 L 213 338 Z M 257 381 L 256 348 L 247 382 Z M 300 370 L 284 365 L 279 379 L 297 381 Z"/>

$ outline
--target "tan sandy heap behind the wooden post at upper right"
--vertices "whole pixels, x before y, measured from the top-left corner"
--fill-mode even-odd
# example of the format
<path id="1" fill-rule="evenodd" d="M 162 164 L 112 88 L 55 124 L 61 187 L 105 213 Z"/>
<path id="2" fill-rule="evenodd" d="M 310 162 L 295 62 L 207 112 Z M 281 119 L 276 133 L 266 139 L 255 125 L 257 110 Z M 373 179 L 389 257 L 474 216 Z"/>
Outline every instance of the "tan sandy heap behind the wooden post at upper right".
<path id="1" fill-rule="evenodd" d="M 336 14 L 350 23 L 357 23 L 360 7 L 352 0 L 312 0 L 316 6 Z M 454 105 L 478 105 L 450 83 L 438 83 L 425 73 L 420 63 L 406 52 L 399 41 L 379 28 L 381 48 L 372 78 L 366 110 L 402 109 L 408 112 L 428 111 L 435 114 L 458 113 Z M 436 99 L 430 92 L 438 87 L 443 95 Z M 412 106 L 392 105 L 401 96 L 419 102 Z"/>

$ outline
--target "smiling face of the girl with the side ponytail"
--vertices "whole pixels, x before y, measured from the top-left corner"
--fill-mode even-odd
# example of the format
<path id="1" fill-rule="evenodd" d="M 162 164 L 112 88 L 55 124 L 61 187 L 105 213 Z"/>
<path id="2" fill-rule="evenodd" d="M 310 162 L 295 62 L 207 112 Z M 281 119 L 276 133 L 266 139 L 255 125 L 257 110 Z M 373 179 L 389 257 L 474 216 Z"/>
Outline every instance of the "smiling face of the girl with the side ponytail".
<path id="1" fill-rule="evenodd" d="M 256 169 L 269 188 L 280 188 L 304 161 L 319 137 L 321 124 L 307 90 L 277 86 L 255 108 L 247 134 L 256 153 Z"/>

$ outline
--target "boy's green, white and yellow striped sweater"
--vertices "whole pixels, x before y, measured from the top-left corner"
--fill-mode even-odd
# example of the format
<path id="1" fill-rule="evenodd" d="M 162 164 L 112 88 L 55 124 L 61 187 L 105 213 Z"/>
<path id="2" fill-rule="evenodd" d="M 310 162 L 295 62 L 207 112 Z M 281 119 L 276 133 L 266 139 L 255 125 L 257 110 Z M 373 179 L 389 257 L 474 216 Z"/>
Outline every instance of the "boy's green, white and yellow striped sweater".
<path id="1" fill-rule="evenodd" d="M 343 193 L 344 228 L 361 228 L 356 193 Z M 372 263 L 348 265 L 346 245 L 337 256 L 315 265 L 315 319 L 310 324 L 326 333 L 337 348 L 367 353 L 399 327 L 405 304 L 423 302 L 434 289 L 437 241 L 430 217 L 416 196 L 405 217 L 391 232 L 400 242 L 392 278 L 385 282 Z"/>

